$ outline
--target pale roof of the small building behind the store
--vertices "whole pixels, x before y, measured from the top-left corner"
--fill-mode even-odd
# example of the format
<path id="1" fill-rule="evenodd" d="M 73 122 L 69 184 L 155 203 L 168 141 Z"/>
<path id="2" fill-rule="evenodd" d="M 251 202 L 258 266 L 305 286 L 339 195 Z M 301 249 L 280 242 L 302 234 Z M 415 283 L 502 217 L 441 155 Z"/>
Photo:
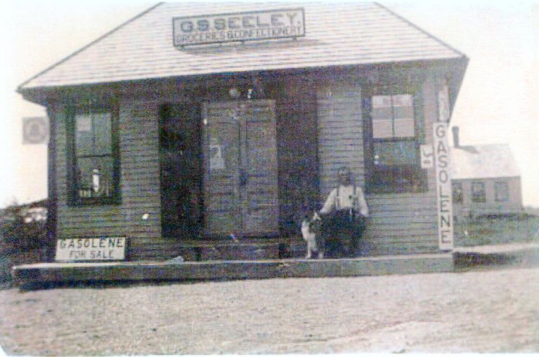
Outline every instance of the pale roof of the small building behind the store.
<path id="1" fill-rule="evenodd" d="M 507 144 L 460 146 L 451 148 L 453 180 L 518 177 L 519 168 Z"/>

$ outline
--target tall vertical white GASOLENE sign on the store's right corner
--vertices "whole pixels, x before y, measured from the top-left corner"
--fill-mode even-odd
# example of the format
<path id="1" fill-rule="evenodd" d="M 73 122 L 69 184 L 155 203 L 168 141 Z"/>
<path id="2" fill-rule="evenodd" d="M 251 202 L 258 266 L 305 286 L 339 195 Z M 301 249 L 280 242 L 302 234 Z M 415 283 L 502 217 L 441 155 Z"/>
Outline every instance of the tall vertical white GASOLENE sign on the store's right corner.
<path id="1" fill-rule="evenodd" d="M 451 164 L 448 123 L 434 123 L 434 161 L 438 211 L 438 241 L 441 250 L 453 249 L 453 202 L 451 201 Z"/>

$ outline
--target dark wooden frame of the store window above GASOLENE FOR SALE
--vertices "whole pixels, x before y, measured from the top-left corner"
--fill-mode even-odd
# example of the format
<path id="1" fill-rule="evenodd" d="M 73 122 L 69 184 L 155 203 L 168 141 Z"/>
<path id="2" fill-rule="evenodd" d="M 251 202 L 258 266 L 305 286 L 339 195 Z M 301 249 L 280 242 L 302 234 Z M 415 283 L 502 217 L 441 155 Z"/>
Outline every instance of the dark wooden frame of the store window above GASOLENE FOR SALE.
<path id="1" fill-rule="evenodd" d="M 110 144 L 112 157 L 112 188 L 110 196 L 81 197 L 79 196 L 80 182 L 77 173 L 77 114 L 110 113 Z M 120 193 L 120 157 L 119 157 L 119 110 L 116 103 L 89 105 L 72 105 L 67 108 L 66 134 L 67 134 L 67 185 L 69 206 L 104 206 L 122 203 Z M 93 125 L 93 124 L 92 124 Z M 108 154 L 85 155 L 86 157 L 104 157 Z"/>

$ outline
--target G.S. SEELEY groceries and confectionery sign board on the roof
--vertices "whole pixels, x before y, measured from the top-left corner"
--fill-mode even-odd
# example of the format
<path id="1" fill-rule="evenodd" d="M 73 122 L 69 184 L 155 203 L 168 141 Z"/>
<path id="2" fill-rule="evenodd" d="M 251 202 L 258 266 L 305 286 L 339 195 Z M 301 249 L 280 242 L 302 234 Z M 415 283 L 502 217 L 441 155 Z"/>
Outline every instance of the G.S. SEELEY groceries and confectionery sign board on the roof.
<path id="1" fill-rule="evenodd" d="M 174 46 L 305 36 L 303 8 L 188 16 L 172 20 Z"/>

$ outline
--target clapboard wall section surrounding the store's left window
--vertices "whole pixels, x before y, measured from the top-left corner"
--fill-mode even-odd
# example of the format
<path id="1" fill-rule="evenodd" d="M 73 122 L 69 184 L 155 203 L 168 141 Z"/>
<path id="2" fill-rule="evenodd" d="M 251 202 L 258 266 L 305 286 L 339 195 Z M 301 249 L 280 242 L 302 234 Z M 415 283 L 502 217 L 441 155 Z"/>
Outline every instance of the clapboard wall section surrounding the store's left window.
<path id="1" fill-rule="evenodd" d="M 58 107 L 56 126 L 58 237 L 126 236 L 127 257 L 146 259 L 149 241 L 160 241 L 157 105 L 119 100 L 119 151 L 122 201 L 114 205 L 69 206 L 65 108 Z M 148 220 L 142 220 L 148 213 Z"/>

